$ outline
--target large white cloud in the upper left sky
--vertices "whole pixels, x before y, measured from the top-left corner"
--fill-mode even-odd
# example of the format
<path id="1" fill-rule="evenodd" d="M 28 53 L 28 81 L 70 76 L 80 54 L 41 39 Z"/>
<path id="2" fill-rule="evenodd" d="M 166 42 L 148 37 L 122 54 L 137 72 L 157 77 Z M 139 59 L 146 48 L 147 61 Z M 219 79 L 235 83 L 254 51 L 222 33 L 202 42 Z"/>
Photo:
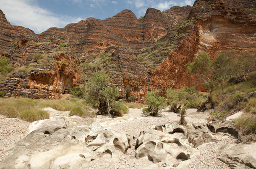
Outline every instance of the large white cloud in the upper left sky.
<path id="1" fill-rule="evenodd" d="M 35 0 L 0 0 L 0 6 L 10 23 L 30 28 L 35 33 L 41 33 L 51 27 L 61 28 L 82 20 L 80 17 L 60 16 L 40 8 L 35 4 Z"/>

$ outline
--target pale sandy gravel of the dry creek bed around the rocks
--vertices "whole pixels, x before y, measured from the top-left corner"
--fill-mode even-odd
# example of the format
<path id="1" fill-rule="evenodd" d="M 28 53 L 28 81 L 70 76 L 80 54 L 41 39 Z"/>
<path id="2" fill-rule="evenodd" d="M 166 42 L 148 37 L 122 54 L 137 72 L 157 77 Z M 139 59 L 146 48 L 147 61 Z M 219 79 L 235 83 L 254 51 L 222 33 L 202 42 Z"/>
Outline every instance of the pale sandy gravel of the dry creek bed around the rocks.
<path id="1" fill-rule="evenodd" d="M 50 113 L 50 117 L 55 116 L 67 116 L 68 112 L 56 111 L 52 108 L 45 108 L 46 111 Z M 188 109 L 186 120 L 189 124 L 191 123 L 206 123 L 207 113 L 196 113 L 196 109 Z M 97 120 L 104 120 L 106 116 L 98 116 Z M 167 109 L 162 111 L 161 117 L 143 116 L 142 111 L 137 108 L 129 108 L 129 114 L 125 114 L 123 117 L 110 119 L 107 122 L 107 128 L 114 131 L 125 132 L 137 139 L 139 133 L 143 130 L 154 127 L 157 124 L 165 123 L 176 123 L 180 117 L 175 113 L 167 112 Z M 3 149 L 7 148 L 8 145 L 16 143 L 20 139 L 24 138 L 28 133 L 29 122 L 22 121 L 20 119 L 9 119 L 0 116 L 0 161 L 7 154 L 3 154 Z M 217 160 L 218 151 L 220 146 L 227 143 L 235 144 L 236 139 L 229 135 L 217 134 L 215 135 L 217 141 L 214 143 L 204 144 L 199 146 L 197 149 L 200 154 L 196 156 L 196 159 L 188 166 L 189 169 L 225 169 L 228 168 L 226 164 Z M 153 164 L 151 161 L 141 158 L 132 158 L 135 155 L 134 145 L 127 151 L 126 154 L 120 152 L 120 160 L 113 162 L 107 161 L 103 158 L 98 158 L 86 166 L 86 169 L 141 169 L 146 166 L 155 166 L 158 168 L 163 167 L 165 164 Z M 177 160 L 177 162 L 179 162 Z"/>

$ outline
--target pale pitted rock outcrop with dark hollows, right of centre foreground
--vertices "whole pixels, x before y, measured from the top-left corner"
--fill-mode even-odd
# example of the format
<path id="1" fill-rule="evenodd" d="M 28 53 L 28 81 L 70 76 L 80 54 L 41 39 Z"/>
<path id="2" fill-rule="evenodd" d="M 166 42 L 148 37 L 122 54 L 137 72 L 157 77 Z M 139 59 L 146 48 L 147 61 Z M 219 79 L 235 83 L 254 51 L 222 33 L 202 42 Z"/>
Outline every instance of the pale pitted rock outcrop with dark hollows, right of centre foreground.
<path id="1" fill-rule="evenodd" d="M 215 141 L 214 136 L 204 124 L 179 126 L 175 124 L 157 125 L 154 129 L 142 131 L 136 141 L 136 159 L 147 157 L 153 163 L 180 159 L 191 159 L 196 151 L 193 147 Z M 184 163 L 186 165 L 188 163 Z M 179 164 L 183 167 L 184 164 Z"/>

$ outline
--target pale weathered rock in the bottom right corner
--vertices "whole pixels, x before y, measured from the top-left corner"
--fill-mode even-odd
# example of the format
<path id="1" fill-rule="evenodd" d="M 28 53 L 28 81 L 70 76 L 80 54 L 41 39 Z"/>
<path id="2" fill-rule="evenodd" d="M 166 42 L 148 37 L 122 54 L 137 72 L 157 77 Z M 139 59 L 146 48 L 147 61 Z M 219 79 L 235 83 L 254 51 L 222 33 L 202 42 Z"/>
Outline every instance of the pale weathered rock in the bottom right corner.
<path id="1" fill-rule="evenodd" d="M 228 164 L 231 169 L 256 169 L 256 159 L 249 155 L 241 145 L 223 145 L 218 159 Z"/>

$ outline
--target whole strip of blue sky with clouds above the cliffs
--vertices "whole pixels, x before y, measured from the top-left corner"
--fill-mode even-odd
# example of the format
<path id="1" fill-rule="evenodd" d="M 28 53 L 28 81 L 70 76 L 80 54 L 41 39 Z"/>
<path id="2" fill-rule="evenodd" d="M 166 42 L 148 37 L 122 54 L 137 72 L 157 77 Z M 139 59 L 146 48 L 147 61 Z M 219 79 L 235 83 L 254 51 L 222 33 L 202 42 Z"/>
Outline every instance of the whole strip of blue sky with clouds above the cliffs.
<path id="1" fill-rule="evenodd" d="M 149 7 L 167 10 L 172 6 L 193 5 L 195 0 L 0 0 L 0 10 L 12 25 L 42 33 L 51 27 L 93 17 L 105 19 L 124 9 L 139 18 Z"/>

